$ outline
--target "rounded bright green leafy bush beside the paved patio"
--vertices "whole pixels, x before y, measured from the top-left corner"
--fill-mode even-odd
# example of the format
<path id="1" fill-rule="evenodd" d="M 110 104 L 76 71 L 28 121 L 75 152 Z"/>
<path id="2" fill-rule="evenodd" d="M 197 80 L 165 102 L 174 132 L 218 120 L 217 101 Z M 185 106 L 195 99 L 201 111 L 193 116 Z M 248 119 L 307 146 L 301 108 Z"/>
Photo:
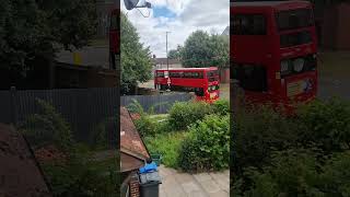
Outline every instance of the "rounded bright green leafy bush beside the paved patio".
<path id="1" fill-rule="evenodd" d="M 179 166 L 184 171 L 218 171 L 229 167 L 230 118 L 209 115 L 189 128 L 179 151 Z"/>

